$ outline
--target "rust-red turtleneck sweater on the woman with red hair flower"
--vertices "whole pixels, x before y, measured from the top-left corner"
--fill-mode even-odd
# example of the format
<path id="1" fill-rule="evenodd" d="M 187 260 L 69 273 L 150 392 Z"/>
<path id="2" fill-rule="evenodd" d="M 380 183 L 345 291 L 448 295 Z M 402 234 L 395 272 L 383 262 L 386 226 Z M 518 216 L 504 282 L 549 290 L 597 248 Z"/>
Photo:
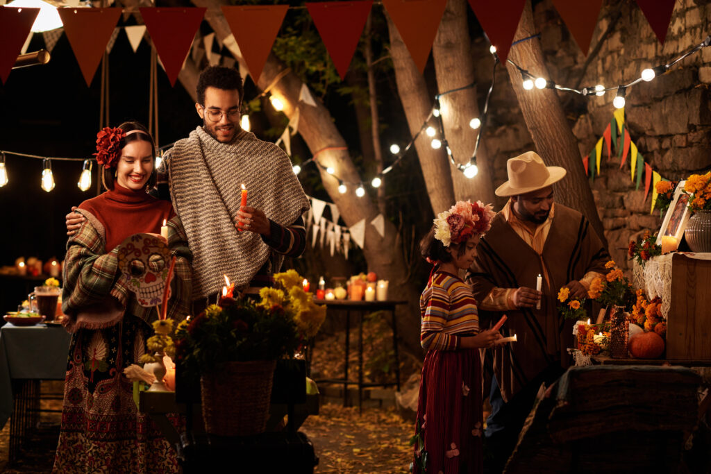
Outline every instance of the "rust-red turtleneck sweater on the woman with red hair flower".
<path id="1" fill-rule="evenodd" d="M 104 226 L 107 253 L 129 235 L 159 234 L 163 220 L 176 215 L 170 201 L 156 199 L 145 189 L 134 191 L 117 183 L 114 189 L 85 200 L 79 208 L 91 212 Z"/>

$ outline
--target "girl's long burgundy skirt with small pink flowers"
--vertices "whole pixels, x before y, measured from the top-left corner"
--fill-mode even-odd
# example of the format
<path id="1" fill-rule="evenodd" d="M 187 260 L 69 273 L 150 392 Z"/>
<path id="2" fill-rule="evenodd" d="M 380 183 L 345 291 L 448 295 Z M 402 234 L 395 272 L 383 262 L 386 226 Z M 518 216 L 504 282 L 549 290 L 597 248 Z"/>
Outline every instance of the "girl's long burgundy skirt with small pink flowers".
<path id="1" fill-rule="evenodd" d="M 419 384 L 413 472 L 481 473 L 482 422 L 479 350 L 427 352 Z"/>

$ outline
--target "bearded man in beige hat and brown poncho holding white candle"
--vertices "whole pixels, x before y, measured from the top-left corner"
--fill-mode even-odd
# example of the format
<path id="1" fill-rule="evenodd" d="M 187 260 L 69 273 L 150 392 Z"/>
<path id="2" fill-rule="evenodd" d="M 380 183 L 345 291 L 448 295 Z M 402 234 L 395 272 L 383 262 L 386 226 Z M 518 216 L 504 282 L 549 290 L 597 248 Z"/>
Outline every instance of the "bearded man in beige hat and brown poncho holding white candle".
<path id="1" fill-rule="evenodd" d="M 550 384 L 569 365 L 573 322 L 557 311 L 558 291 L 565 286 L 571 296 L 584 298 L 609 259 L 588 220 L 553 203 L 553 184 L 565 178 L 564 168 L 545 166 L 537 153 L 527 151 L 510 158 L 507 171 L 508 181 L 496 195 L 509 197 L 508 203 L 476 247 L 467 273 L 479 301 L 480 327 L 506 313 L 501 333 L 517 338 L 484 358 L 485 394 L 492 407 L 485 432 L 494 455 L 492 472 L 503 468 L 513 451 L 540 384 Z M 541 291 L 536 291 L 539 275 Z"/>

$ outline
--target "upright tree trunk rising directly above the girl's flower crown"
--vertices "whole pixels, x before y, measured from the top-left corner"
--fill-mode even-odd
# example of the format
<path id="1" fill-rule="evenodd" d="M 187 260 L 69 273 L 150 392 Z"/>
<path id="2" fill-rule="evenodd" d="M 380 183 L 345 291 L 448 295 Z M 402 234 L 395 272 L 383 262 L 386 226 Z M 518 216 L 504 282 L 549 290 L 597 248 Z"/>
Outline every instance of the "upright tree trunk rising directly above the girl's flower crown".
<path id="1" fill-rule="evenodd" d="M 474 82 L 474 62 L 471 55 L 469 26 L 466 21 L 466 0 L 449 0 L 439 24 L 437 36 L 432 45 L 434 70 L 437 72 L 439 92 L 454 90 Z M 493 60 L 492 60 L 493 68 Z M 479 117 L 479 105 L 476 103 L 476 86 L 452 92 L 440 97 L 442 106 L 442 124 L 447 136 L 449 148 L 457 163 L 466 165 L 474 153 L 476 135 L 481 131 L 471 129 L 469 122 Z M 476 153 L 476 166 L 479 173 L 474 178 L 466 178 L 464 173 L 450 166 L 454 197 L 456 200 L 483 200 L 493 203 L 493 177 L 490 161 L 483 142 Z"/>

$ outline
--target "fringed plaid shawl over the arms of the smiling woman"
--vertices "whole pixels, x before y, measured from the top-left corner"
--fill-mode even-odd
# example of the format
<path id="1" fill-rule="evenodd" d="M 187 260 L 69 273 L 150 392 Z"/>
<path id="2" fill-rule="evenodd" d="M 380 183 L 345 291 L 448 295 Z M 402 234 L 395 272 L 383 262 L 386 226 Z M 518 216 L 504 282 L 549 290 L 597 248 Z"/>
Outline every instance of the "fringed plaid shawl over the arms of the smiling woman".
<path id="1" fill-rule="evenodd" d="M 87 210 L 78 209 L 87 220 L 69 238 L 64 264 L 63 323 L 70 333 L 78 329 L 108 328 L 128 312 L 146 323 L 158 318 L 156 308 L 144 308 L 128 289 L 126 277 L 118 267 L 118 247 L 105 253 L 104 229 Z M 188 314 L 191 301 L 191 254 L 178 217 L 168 223 L 171 254 L 178 257 L 173 273 L 172 295 L 167 315 L 180 318 Z"/>

